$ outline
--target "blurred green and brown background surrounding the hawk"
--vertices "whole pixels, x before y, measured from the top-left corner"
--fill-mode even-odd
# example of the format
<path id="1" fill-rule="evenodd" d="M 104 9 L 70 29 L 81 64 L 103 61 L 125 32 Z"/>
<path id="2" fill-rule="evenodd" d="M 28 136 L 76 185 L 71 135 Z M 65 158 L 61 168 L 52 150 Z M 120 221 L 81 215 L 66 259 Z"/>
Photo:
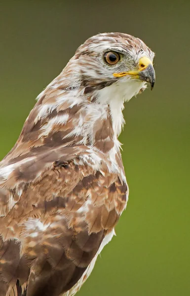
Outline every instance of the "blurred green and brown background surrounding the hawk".
<path id="1" fill-rule="evenodd" d="M 38 93 L 99 32 L 142 38 L 156 83 L 125 106 L 129 202 L 78 296 L 190 295 L 190 1 L 1 1 L 0 157 Z"/>

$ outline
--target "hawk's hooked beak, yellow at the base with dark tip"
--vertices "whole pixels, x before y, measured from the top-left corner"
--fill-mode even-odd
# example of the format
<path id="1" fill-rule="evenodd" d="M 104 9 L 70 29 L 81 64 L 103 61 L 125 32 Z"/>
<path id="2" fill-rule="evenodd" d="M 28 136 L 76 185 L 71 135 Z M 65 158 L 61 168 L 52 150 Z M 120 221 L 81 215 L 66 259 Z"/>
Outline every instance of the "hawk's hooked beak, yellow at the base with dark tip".
<path id="1" fill-rule="evenodd" d="M 149 82 L 151 84 L 151 90 L 155 82 L 155 71 L 153 69 L 152 61 L 147 57 L 140 58 L 138 70 L 122 72 L 122 73 L 114 73 L 113 75 L 114 77 L 123 77 L 126 75 L 132 75 L 136 79 Z"/>

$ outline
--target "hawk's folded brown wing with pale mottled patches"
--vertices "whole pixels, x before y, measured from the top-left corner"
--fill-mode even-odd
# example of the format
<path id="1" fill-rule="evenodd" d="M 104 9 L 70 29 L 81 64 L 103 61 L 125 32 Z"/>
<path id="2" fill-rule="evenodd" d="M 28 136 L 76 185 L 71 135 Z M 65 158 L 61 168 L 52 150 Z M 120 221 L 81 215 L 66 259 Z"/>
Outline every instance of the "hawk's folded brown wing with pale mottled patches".
<path id="1" fill-rule="evenodd" d="M 0 286 L 9 295 L 21 295 L 20 285 L 27 296 L 67 292 L 112 231 L 122 185 L 108 168 L 102 174 L 92 163 L 90 150 L 78 146 L 1 166 Z"/>

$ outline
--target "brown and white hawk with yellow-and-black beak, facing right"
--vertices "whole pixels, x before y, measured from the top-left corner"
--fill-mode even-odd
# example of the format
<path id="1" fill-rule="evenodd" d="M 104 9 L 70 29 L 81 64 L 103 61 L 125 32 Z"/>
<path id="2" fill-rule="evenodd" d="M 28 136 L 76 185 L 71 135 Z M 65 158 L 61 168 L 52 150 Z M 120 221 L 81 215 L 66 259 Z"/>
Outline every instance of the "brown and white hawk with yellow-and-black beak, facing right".
<path id="1" fill-rule="evenodd" d="M 73 296 L 126 207 L 123 104 L 154 85 L 139 38 L 87 39 L 0 162 L 0 296 Z"/>

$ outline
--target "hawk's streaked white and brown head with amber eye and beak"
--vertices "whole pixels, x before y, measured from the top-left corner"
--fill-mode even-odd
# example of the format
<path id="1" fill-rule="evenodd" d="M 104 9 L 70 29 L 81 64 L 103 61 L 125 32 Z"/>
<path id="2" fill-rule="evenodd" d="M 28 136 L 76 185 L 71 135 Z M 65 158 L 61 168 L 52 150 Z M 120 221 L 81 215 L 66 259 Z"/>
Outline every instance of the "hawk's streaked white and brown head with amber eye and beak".
<path id="1" fill-rule="evenodd" d="M 113 93 L 116 89 L 124 100 L 129 100 L 146 88 L 147 82 L 153 88 L 153 57 L 152 50 L 139 38 L 122 33 L 104 33 L 87 39 L 76 50 L 69 65 L 73 65 L 72 73 L 79 77 L 84 93 L 112 85 L 107 90 Z"/>

